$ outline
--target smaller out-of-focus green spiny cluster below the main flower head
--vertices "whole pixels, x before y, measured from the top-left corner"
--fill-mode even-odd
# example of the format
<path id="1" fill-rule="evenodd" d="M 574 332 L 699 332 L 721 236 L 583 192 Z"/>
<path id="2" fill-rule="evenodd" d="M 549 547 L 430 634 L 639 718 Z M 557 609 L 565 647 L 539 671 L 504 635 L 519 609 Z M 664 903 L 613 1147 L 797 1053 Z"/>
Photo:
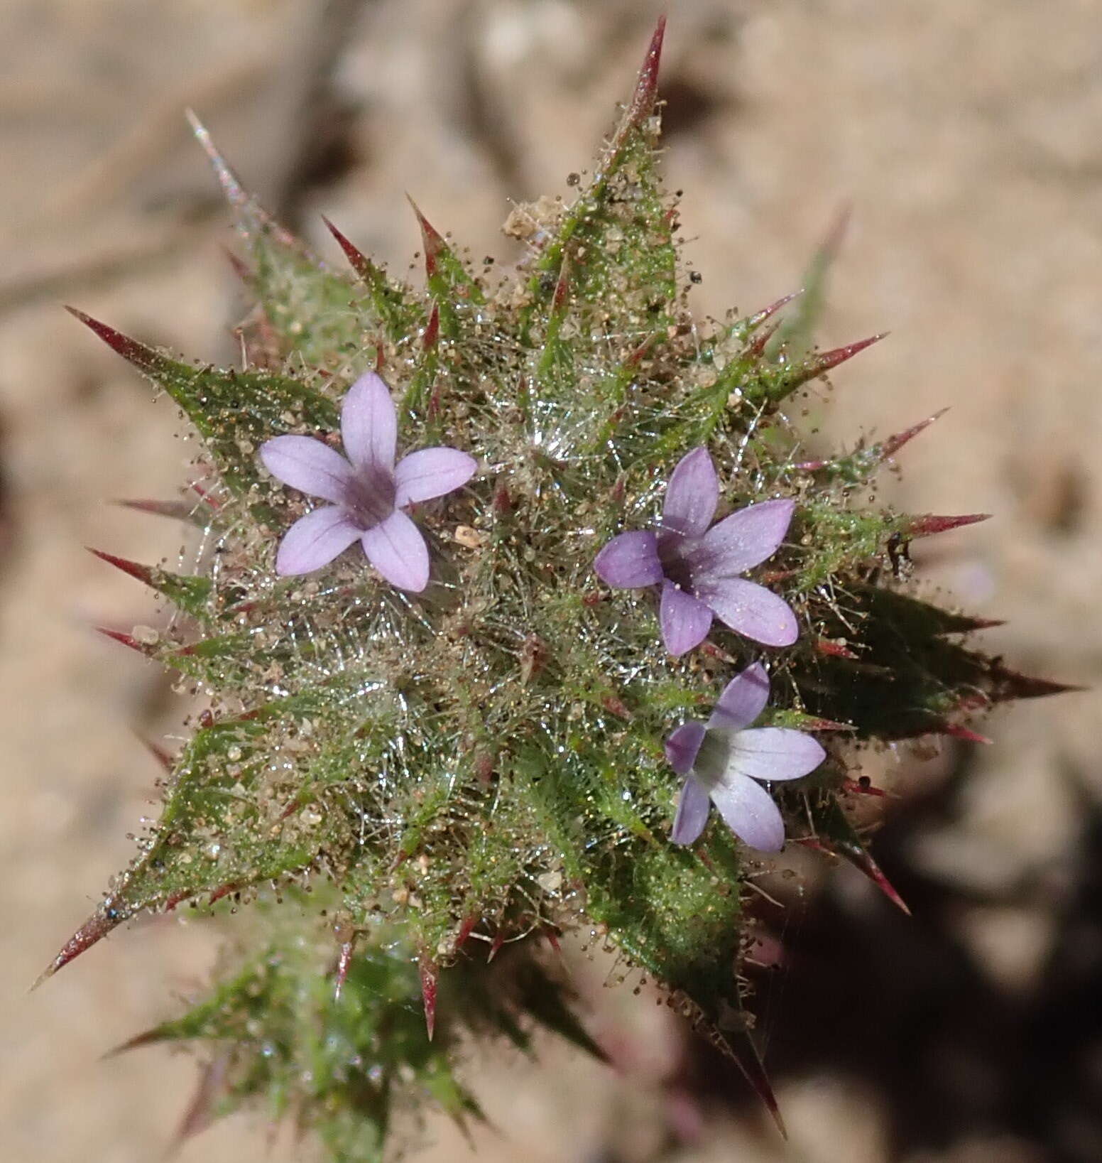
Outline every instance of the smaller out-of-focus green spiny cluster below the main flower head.
<path id="1" fill-rule="evenodd" d="M 307 905 L 295 891 L 289 896 L 289 907 L 276 908 L 269 899 L 256 906 L 253 923 L 245 926 L 255 947 L 223 957 L 220 982 L 206 998 L 119 1048 L 160 1042 L 210 1048 L 180 1139 L 256 1104 L 273 1122 L 291 1118 L 299 1128 L 316 1129 L 334 1160 L 370 1163 L 379 1158 L 392 1125 L 416 1115 L 423 1100 L 460 1127 L 481 1118 L 455 1072 L 463 1039 L 495 1037 L 527 1053 L 529 1027 L 542 1026 L 601 1055 L 561 1006 L 561 975 L 528 949 L 510 951 L 489 970 L 460 962 L 442 983 L 442 1016 L 430 1041 L 421 975 L 401 934 L 379 926 L 355 957 L 342 957 L 335 991 L 332 934 L 303 926 L 303 909 L 316 913 L 320 902 Z M 351 942 L 345 921 L 334 932 Z M 409 1129 L 402 1128 L 407 1135 Z"/>

